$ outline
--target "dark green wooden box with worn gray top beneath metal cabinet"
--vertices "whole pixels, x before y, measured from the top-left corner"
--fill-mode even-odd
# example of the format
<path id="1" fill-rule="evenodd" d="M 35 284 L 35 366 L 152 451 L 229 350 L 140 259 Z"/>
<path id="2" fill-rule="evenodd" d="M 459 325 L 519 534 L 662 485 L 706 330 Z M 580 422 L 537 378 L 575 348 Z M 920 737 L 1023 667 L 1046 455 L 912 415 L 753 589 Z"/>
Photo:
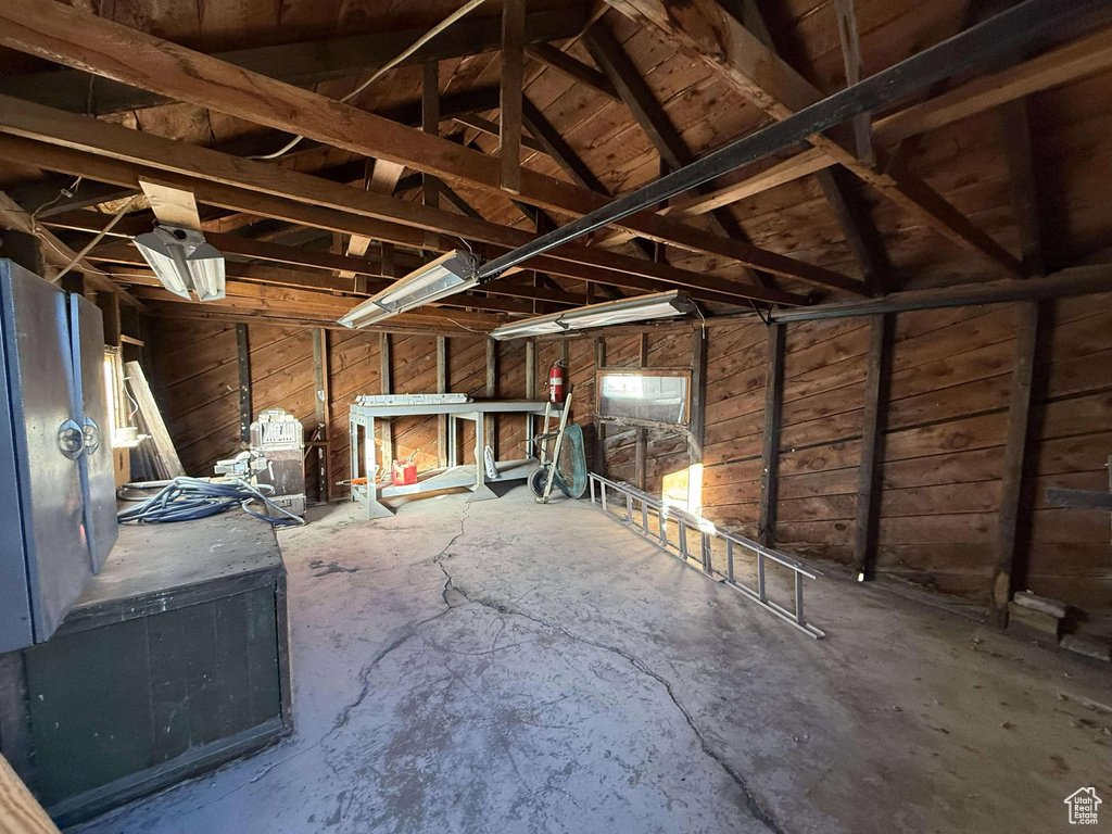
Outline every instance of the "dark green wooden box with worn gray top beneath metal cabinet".
<path id="1" fill-rule="evenodd" d="M 54 636 L 0 656 L 0 752 L 62 826 L 291 729 L 286 569 L 244 513 L 121 527 Z"/>

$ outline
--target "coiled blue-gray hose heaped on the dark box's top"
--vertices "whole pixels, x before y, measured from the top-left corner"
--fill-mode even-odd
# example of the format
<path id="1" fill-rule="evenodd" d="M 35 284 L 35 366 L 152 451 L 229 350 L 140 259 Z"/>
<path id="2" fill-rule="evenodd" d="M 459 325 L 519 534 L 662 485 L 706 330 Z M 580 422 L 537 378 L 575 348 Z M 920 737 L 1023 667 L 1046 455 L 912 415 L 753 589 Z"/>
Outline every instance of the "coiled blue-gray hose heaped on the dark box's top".
<path id="1" fill-rule="evenodd" d="M 305 524 L 304 518 L 298 518 L 267 498 L 267 495 L 274 495 L 274 487 L 269 484 L 252 486 L 240 478 L 211 481 L 181 476 L 150 497 L 135 497 L 129 493 L 141 489 L 142 485 L 128 484 L 117 493 L 121 500 L 139 502 L 138 506 L 116 514 L 120 524 L 191 522 L 226 513 L 237 506 L 248 515 L 274 525 Z M 250 505 L 255 502 L 262 502 L 264 507 L 277 510 L 280 515 L 270 516 L 251 509 Z"/>

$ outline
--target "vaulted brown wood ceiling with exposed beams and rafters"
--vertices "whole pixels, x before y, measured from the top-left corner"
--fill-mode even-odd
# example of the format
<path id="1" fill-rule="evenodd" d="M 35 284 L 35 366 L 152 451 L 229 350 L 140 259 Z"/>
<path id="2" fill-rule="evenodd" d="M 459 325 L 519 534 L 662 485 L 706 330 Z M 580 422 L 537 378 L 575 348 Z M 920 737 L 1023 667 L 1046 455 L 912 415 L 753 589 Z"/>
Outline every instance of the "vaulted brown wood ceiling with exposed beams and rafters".
<path id="1" fill-rule="evenodd" d="M 193 190 L 206 231 L 229 256 L 229 299 L 207 312 L 330 321 L 423 250 L 459 239 L 490 256 L 514 248 L 602 205 L 597 195 L 628 192 L 1009 3 L 692 0 L 685 8 L 699 17 L 685 23 L 654 0 L 530 0 L 519 195 L 498 187 L 499 0 L 349 102 L 390 122 L 424 121 L 450 145 L 390 132 L 389 122 L 325 100 L 349 93 L 460 4 L 73 0 L 72 10 L 12 0 L 0 10 L 0 42 L 14 47 L 0 50 L 0 96 L 11 97 L 0 99 L 0 189 L 13 203 L 0 216 L 18 226 L 20 209 L 34 214 L 34 228 L 58 236 L 48 255 L 64 262 L 137 177 L 158 172 Z M 89 14 L 220 63 L 193 66 L 156 41 L 130 42 Z M 840 38 L 854 17 L 858 44 Z M 741 44 L 738 66 L 721 66 L 714 43 L 701 42 L 707 21 Z M 987 80 L 936 86 L 925 102 L 875 113 L 872 126 L 858 120 L 841 145 L 818 138 L 815 149 L 786 150 L 678 198 L 664 218 L 631 218 L 625 231 L 532 261 L 536 275 L 498 279 L 397 324 L 485 329 L 504 316 L 669 286 L 728 311 L 1106 260 L 1108 22 L 1048 33 L 1030 53 L 981 68 Z M 121 43 L 130 49 L 115 66 Z M 776 61 L 774 78 L 757 78 Z M 230 80 L 216 83 L 226 70 Z M 307 92 L 267 86 L 256 72 Z M 237 97 L 237 85 L 251 95 Z M 863 139 L 870 128 L 881 168 Z M 277 150 L 294 133 L 309 139 L 278 161 L 234 159 Z M 368 161 L 399 155 L 405 170 L 379 166 L 376 175 Z M 66 197 L 60 189 L 72 190 L 78 175 Z M 150 221 L 142 200 L 133 203 L 89 254 L 88 271 L 129 287 L 152 311 L 180 310 L 125 242 Z"/>

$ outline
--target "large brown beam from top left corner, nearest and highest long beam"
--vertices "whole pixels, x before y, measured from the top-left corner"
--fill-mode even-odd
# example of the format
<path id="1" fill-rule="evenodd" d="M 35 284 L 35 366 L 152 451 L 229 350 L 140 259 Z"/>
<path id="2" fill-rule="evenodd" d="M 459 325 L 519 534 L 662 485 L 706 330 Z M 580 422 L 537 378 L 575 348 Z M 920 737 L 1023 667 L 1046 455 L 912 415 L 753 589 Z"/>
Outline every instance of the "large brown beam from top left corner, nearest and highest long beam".
<path id="1" fill-rule="evenodd" d="M 495 158 L 61 3 L 7 0 L 0 6 L 0 46 L 277 130 L 297 132 L 355 153 L 399 162 L 423 173 L 502 193 L 499 161 Z M 135 54 L 143 56 L 141 67 L 127 60 Z M 10 100 L 4 102 L 3 110 L 8 109 Z M 522 171 L 520 199 L 579 216 L 607 202 L 599 195 L 529 169 Z M 767 271 L 776 271 L 766 265 L 775 262 L 787 275 L 804 280 L 826 277 L 853 284 L 831 270 L 652 212 L 625 218 L 619 226 L 643 237 L 721 255 Z"/>

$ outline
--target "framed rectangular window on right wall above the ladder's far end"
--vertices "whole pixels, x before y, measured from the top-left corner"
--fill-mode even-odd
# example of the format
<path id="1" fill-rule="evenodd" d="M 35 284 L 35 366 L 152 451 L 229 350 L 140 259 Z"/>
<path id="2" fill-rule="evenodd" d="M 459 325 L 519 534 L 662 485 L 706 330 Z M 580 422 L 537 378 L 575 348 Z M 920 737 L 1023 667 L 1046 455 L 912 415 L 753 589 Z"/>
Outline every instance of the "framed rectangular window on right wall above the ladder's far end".
<path id="1" fill-rule="evenodd" d="M 688 371 L 600 370 L 599 417 L 686 425 L 689 420 Z"/>

